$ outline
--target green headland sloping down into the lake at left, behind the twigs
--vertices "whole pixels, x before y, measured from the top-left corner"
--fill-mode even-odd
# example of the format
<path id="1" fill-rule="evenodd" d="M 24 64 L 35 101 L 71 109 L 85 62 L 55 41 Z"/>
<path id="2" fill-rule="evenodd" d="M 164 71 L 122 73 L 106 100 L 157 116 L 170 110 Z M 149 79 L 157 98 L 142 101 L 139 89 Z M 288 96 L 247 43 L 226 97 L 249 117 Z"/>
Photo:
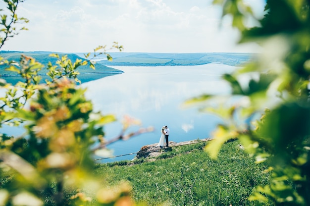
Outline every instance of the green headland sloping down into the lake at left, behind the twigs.
<path id="1" fill-rule="evenodd" d="M 20 51 L 0 51 L 0 56 L 2 56 L 4 59 L 8 59 L 8 60 L 14 60 L 14 61 L 19 61 L 20 59 L 20 55 L 24 54 L 27 56 L 32 56 L 33 58 L 35 58 L 37 61 L 39 61 L 40 63 L 42 63 L 43 65 L 47 65 L 50 62 L 52 62 L 52 64 L 55 64 L 56 62 L 56 58 L 55 57 L 50 57 L 49 54 L 51 54 L 52 52 L 47 52 L 47 51 L 34 51 L 34 52 L 20 52 Z M 65 55 L 64 53 L 59 53 L 59 55 Z M 71 59 L 72 62 L 74 62 L 77 58 L 79 59 L 84 59 L 76 54 L 67 54 L 68 58 Z M 94 73 L 94 72 L 99 72 L 99 73 L 106 73 L 106 72 L 111 72 L 111 73 L 122 73 L 122 71 L 118 70 L 118 69 L 114 69 L 111 67 L 107 67 L 104 66 L 103 64 L 95 64 L 96 66 L 96 70 L 94 71 L 93 69 L 91 69 L 88 65 L 86 66 L 80 66 L 78 68 L 78 71 L 81 74 L 85 74 L 85 73 Z M 1 66 L 0 65 L 0 74 L 1 75 L 14 75 L 16 73 L 10 72 L 10 71 L 5 71 L 4 70 L 5 66 Z M 47 73 L 47 69 L 43 69 L 42 71 L 40 71 L 40 74 L 46 74 Z"/>

